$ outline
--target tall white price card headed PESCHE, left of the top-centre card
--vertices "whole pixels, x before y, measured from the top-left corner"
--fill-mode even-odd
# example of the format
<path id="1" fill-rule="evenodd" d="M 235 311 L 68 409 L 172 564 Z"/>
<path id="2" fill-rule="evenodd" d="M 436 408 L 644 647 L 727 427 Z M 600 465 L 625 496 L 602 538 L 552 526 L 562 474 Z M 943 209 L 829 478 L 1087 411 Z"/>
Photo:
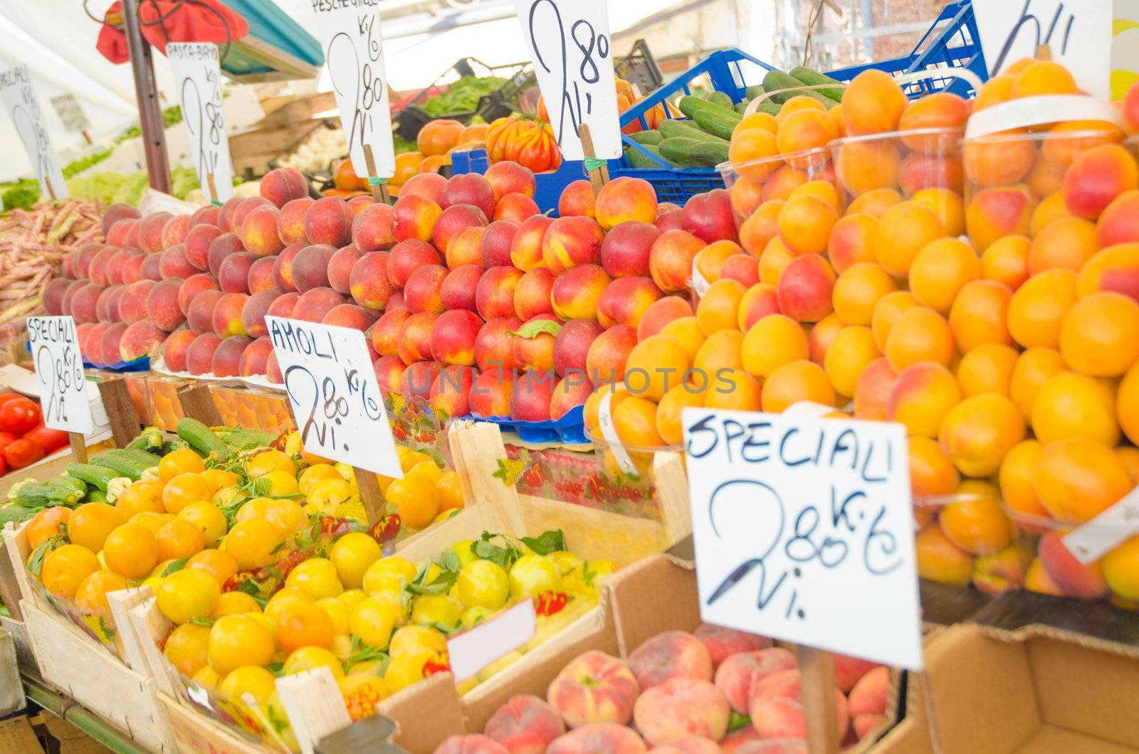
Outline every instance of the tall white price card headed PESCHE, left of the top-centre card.
<path id="1" fill-rule="evenodd" d="M 312 0 L 325 64 L 349 140 L 352 167 L 368 177 L 364 146 L 370 147 L 376 175 L 395 174 L 392 110 L 384 76 L 384 35 L 377 0 Z"/>

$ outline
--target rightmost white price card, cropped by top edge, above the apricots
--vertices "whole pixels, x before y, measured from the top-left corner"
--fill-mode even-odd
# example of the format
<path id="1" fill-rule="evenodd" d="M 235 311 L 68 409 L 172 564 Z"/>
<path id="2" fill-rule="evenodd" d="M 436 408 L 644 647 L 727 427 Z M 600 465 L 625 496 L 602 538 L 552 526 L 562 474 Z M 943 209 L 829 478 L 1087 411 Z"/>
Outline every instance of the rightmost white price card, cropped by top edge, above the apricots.
<path id="1" fill-rule="evenodd" d="M 989 75 L 1048 44 L 1089 95 L 1111 95 L 1114 0 L 973 0 Z"/>

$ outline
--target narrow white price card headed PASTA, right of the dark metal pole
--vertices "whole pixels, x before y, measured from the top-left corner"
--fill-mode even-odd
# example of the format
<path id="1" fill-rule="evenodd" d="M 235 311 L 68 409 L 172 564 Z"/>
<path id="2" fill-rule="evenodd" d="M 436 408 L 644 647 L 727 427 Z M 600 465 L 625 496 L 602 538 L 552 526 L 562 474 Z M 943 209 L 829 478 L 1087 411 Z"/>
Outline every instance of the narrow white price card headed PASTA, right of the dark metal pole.
<path id="1" fill-rule="evenodd" d="M 226 202 L 233 196 L 233 167 L 222 116 L 218 46 L 171 42 L 166 46 L 166 58 L 182 106 L 182 122 L 190 134 L 202 194 L 210 202 Z"/>

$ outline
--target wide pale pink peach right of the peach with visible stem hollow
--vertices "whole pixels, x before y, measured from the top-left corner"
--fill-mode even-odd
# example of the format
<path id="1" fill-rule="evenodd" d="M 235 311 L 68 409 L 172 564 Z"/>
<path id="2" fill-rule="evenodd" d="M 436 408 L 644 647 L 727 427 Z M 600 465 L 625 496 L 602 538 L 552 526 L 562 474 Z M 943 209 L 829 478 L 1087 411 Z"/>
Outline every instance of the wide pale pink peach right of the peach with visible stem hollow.
<path id="1" fill-rule="evenodd" d="M 720 740 L 728 732 L 731 707 L 711 681 L 672 678 L 646 689 L 633 705 L 633 722 L 649 744 L 703 736 Z"/>

